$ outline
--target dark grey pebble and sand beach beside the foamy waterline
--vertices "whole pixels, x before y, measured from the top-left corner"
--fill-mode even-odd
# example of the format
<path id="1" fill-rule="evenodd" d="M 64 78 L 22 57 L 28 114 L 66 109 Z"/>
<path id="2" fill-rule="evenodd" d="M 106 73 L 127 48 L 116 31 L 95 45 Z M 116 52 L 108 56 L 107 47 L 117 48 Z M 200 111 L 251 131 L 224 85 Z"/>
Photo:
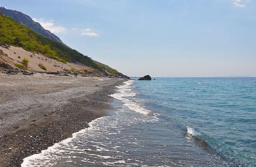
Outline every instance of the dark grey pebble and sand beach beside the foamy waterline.
<path id="1" fill-rule="evenodd" d="M 103 79 L 103 81 L 101 81 Z M 23 158 L 88 127 L 106 115 L 115 86 L 124 79 L 0 75 L 0 167 L 18 167 Z"/>

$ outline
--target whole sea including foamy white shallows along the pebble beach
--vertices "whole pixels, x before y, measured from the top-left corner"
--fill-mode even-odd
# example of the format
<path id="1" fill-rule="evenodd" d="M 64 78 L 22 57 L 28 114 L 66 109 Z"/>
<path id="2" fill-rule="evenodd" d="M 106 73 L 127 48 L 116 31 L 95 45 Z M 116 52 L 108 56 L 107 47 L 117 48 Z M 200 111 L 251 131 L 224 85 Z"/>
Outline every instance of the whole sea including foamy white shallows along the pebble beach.
<path id="1" fill-rule="evenodd" d="M 133 79 L 109 116 L 21 166 L 256 167 L 256 78 Z"/>

